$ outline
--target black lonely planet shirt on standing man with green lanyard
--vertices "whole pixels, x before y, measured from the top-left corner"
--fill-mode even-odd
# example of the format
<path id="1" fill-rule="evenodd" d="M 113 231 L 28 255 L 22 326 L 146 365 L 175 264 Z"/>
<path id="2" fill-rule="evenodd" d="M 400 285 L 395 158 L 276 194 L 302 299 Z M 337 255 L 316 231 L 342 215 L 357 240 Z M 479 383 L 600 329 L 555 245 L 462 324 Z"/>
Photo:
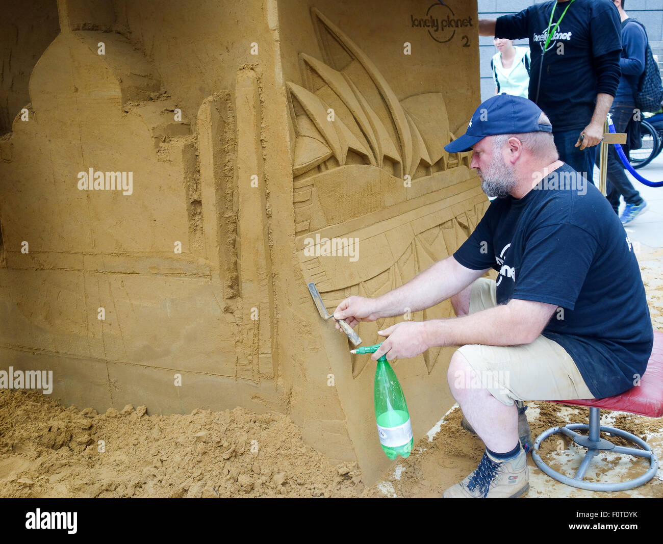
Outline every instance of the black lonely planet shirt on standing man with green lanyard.
<path id="1" fill-rule="evenodd" d="M 520 13 L 503 15 L 495 25 L 496 38 L 530 41 L 532 68 L 529 98 L 536 101 L 541 52 L 550 29 L 568 2 L 544 2 Z M 621 50 L 621 21 L 610 0 L 574 0 L 548 44 L 541 72 L 537 105 L 548 115 L 555 132 L 584 129 L 591 121 L 597 95 L 593 60 Z"/>

